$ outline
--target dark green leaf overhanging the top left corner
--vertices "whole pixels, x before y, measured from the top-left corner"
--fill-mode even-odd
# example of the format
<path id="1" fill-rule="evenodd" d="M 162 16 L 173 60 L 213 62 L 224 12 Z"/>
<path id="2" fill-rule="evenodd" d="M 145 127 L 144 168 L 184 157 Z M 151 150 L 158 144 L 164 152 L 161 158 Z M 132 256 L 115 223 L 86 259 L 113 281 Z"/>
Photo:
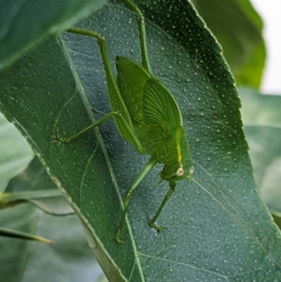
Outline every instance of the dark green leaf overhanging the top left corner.
<path id="1" fill-rule="evenodd" d="M 100 9 L 105 0 L 0 2 L 0 70 L 51 34 L 58 34 Z"/>

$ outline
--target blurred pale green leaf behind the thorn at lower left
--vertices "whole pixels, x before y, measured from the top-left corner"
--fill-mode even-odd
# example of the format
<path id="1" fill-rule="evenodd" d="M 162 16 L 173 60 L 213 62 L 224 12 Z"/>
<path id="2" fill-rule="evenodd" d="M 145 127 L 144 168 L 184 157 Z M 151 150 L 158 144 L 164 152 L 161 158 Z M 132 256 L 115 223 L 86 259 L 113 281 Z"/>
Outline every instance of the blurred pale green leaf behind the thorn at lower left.
<path id="1" fill-rule="evenodd" d="M 2 210 L 0 225 L 55 241 L 48 245 L 1 237 L 0 271 L 5 282 L 98 281 L 101 271 L 76 216 L 53 217 L 24 204 Z"/>

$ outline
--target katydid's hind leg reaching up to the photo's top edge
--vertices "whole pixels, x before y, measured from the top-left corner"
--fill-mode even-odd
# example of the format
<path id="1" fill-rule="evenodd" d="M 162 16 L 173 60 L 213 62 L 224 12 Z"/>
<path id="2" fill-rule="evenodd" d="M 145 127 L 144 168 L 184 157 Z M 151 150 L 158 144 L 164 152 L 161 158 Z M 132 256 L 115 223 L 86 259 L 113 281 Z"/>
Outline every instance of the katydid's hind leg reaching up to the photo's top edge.
<path id="1" fill-rule="evenodd" d="M 138 8 L 138 6 L 136 6 L 136 4 L 134 4 L 131 0 L 124 0 L 124 2 L 138 15 L 138 29 L 140 30 L 141 37 L 141 57 L 143 58 L 143 68 L 152 75 L 152 68 L 148 57 L 148 44 L 146 44 L 145 17 L 140 8 Z"/>

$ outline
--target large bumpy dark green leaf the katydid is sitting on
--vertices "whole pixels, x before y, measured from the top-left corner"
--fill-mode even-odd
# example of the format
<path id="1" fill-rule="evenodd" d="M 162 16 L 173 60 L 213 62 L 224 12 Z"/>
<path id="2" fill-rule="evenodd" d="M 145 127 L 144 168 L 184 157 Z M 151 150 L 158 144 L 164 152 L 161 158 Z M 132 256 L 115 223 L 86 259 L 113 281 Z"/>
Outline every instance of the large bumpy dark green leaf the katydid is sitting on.
<path id="1" fill-rule="evenodd" d="M 70 136 L 89 125 L 91 105 L 110 111 L 94 39 L 50 39 L 3 72 L 1 110 L 71 201 L 110 281 L 279 279 L 280 233 L 256 193 L 240 101 L 220 47 L 188 2 L 153 1 L 141 8 L 153 71 L 183 113 L 195 177 L 231 196 L 200 182 L 229 212 L 197 184 L 181 181 L 158 221 L 170 230 L 156 233 L 148 222 L 167 191 L 166 183 L 154 186 L 156 167 L 133 195 L 125 244 L 115 242 L 119 191 L 124 197 L 148 156 L 121 139 L 112 121 L 100 127 L 103 139 L 98 130 L 67 145 L 54 139 L 57 127 Z M 81 26 L 107 38 L 112 66 L 117 54 L 141 62 L 136 15 L 124 5 L 111 3 Z"/>

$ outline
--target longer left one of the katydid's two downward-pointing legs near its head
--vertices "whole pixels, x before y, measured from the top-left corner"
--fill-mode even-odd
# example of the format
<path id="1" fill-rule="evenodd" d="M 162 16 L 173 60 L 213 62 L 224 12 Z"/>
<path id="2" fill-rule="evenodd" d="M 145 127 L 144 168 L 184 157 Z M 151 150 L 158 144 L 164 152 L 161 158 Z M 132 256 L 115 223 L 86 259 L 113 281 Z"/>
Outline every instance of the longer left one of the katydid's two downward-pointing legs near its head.
<path id="1" fill-rule="evenodd" d="M 119 227 L 116 231 L 116 241 L 119 243 L 124 243 L 122 241 L 122 239 L 120 238 L 120 232 L 122 231 L 122 228 L 124 226 L 124 222 L 125 222 L 125 217 L 126 217 L 126 212 L 128 210 L 128 205 L 129 205 L 129 201 L 131 199 L 131 196 L 133 194 L 134 191 L 136 191 L 136 188 L 138 187 L 139 184 L 141 184 L 141 181 L 143 181 L 143 179 L 146 177 L 146 175 L 148 174 L 148 172 L 150 172 L 150 169 L 152 169 L 152 167 L 154 167 L 157 164 L 157 159 L 152 157 L 150 158 L 150 161 L 148 162 L 148 164 L 145 166 L 145 168 L 143 169 L 143 171 L 138 174 L 138 177 L 136 178 L 135 181 L 133 181 L 133 184 L 131 185 L 131 188 L 129 188 L 129 191 L 126 194 L 126 198 L 124 200 L 124 210 L 122 213 L 122 218 L 119 224 Z"/>

